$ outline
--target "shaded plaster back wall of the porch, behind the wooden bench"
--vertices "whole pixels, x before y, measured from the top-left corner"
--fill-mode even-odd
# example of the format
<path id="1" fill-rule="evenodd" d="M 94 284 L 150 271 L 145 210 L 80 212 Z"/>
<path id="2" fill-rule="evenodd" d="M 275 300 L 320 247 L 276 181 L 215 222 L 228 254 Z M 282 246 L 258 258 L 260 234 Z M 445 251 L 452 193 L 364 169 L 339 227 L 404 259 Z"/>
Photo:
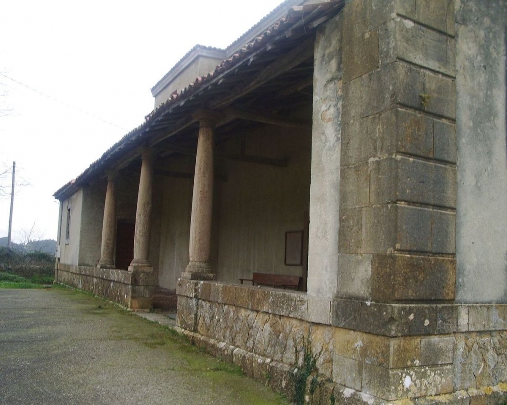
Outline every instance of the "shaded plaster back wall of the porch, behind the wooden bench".
<path id="1" fill-rule="evenodd" d="M 215 158 L 211 265 L 219 281 L 238 283 L 253 272 L 302 275 L 285 266 L 285 232 L 303 230 L 309 210 L 311 131 L 262 126 L 244 134 L 244 153 L 288 158 L 273 167 Z M 239 154 L 241 136 L 216 155 Z M 193 160 L 168 169 L 192 173 Z M 163 177 L 159 284 L 175 289 L 189 261 L 192 178 Z"/>

